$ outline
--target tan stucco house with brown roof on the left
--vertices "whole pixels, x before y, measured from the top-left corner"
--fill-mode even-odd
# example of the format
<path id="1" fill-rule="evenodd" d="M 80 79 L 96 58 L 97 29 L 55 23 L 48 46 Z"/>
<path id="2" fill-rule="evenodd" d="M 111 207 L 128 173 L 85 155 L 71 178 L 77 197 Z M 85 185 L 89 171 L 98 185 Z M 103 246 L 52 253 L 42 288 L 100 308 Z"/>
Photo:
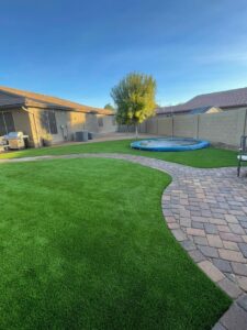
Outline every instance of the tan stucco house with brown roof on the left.
<path id="1" fill-rule="evenodd" d="M 5 112 L 12 117 L 1 114 Z M 0 87 L 0 114 L 1 134 L 22 131 L 33 146 L 41 146 L 44 141 L 74 141 L 75 133 L 81 131 L 94 136 L 116 131 L 114 116 L 108 109 L 4 86 Z"/>

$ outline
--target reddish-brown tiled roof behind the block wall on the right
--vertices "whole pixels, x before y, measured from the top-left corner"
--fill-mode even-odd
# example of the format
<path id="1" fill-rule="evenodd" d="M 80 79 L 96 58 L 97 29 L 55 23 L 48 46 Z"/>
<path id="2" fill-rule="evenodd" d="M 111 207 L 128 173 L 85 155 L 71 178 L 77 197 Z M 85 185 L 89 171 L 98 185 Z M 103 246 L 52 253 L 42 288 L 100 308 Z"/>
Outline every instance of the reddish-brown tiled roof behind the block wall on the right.
<path id="1" fill-rule="evenodd" d="M 156 113 L 182 113 L 203 107 L 218 107 L 221 109 L 227 109 L 245 106 L 247 106 L 247 87 L 199 95 L 188 102 L 179 106 L 158 108 Z"/>

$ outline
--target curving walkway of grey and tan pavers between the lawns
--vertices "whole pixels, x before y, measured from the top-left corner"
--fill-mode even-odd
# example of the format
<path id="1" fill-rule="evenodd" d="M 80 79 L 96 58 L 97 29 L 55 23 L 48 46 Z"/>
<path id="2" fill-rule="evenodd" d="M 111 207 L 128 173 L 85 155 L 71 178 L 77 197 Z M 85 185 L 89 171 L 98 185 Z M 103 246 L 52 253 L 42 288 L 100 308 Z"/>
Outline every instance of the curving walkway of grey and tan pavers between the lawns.
<path id="1" fill-rule="evenodd" d="M 3 160 L 126 160 L 172 176 L 161 205 L 168 228 L 199 267 L 233 299 L 214 329 L 247 329 L 247 178 L 236 168 L 201 169 L 127 154 L 72 154 Z"/>

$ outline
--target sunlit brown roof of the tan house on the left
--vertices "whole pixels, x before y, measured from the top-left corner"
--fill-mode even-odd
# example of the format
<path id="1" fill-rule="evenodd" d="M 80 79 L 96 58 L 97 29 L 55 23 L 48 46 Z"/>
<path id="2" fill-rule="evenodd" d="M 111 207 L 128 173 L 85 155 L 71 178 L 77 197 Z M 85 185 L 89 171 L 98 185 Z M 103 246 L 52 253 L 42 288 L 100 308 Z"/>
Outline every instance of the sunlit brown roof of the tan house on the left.
<path id="1" fill-rule="evenodd" d="M 61 110 L 75 110 L 86 113 L 94 112 L 100 114 L 113 113 L 108 109 L 93 108 L 52 96 L 0 86 L 0 108 L 14 107 L 37 107 L 47 109 L 55 108 Z"/>

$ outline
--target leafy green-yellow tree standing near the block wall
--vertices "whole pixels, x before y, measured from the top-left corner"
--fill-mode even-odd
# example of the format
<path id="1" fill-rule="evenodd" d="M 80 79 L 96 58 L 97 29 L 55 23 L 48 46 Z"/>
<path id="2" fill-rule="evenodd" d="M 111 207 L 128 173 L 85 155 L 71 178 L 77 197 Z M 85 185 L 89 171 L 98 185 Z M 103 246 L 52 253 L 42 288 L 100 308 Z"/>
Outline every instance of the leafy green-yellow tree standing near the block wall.
<path id="1" fill-rule="evenodd" d="M 134 124 L 138 136 L 138 123 L 154 116 L 156 81 L 151 76 L 132 73 L 111 90 L 116 105 L 116 121 L 120 124 Z"/>

